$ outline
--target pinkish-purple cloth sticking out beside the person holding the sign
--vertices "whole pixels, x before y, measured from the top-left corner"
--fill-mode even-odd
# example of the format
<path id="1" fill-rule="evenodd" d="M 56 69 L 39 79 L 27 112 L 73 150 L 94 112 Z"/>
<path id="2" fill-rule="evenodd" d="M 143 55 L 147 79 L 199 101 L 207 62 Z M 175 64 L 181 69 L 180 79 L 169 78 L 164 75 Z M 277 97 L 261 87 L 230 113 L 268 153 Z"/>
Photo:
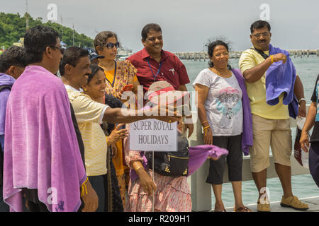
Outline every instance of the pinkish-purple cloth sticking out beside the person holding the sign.
<path id="1" fill-rule="evenodd" d="M 147 169 L 147 159 L 143 152 L 140 153 L 143 158 L 142 165 L 144 169 Z M 195 147 L 189 147 L 189 176 L 196 172 L 196 170 L 203 165 L 208 157 L 219 159 L 221 155 L 228 155 L 228 150 L 225 148 L 219 148 L 216 145 L 198 145 Z M 132 182 L 138 179 L 134 169 L 130 169 L 130 179 Z"/>

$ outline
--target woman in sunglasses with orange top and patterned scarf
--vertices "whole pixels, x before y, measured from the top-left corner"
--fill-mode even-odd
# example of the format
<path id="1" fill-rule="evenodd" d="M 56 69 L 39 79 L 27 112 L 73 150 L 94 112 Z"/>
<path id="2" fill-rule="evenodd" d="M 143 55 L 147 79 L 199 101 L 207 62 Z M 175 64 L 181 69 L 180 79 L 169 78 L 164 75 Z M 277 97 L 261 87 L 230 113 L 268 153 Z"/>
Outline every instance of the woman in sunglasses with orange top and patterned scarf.
<path id="1" fill-rule="evenodd" d="M 122 100 L 122 93 L 124 92 L 123 88 L 125 85 L 133 85 L 132 91 L 136 98 L 138 94 L 138 85 L 140 85 L 138 78 L 136 77 L 137 70 L 130 61 L 116 61 L 116 54 L 119 46 L 120 44 L 116 33 L 111 31 L 99 32 L 94 40 L 96 53 L 99 54 L 99 56 L 104 57 L 103 59 L 99 59 L 98 65 L 103 69 L 106 76 L 105 90 L 107 94 Z M 133 103 L 135 103 L 135 100 L 133 100 Z M 118 149 L 118 154 L 113 158 L 113 164 L 116 168 L 121 197 L 123 203 L 125 203 L 125 187 L 128 186 L 129 181 L 126 180 L 125 183 L 125 171 L 128 172 L 129 169 L 123 163 L 125 162 L 123 157 L 123 141 L 118 141 L 116 147 Z M 128 176 L 128 174 L 126 175 Z"/>

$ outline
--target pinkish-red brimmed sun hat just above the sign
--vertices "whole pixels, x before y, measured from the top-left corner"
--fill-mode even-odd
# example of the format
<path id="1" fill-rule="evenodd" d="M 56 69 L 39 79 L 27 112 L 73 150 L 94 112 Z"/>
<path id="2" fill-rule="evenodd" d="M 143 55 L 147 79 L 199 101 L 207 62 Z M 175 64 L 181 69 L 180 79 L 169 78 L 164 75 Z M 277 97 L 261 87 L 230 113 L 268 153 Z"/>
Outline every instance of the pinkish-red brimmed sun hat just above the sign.
<path id="1" fill-rule="evenodd" d="M 158 104 L 158 97 L 160 97 L 160 102 L 163 101 L 163 98 L 166 100 L 166 104 L 172 104 L 177 100 L 181 100 L 182 97 L 186 96 L 189 98 L 189 92 L 174 90 L 174 87 L 167 81 L 157 81 L 150 85 L 146 93 L 147 99 L 150 102 Z"/>

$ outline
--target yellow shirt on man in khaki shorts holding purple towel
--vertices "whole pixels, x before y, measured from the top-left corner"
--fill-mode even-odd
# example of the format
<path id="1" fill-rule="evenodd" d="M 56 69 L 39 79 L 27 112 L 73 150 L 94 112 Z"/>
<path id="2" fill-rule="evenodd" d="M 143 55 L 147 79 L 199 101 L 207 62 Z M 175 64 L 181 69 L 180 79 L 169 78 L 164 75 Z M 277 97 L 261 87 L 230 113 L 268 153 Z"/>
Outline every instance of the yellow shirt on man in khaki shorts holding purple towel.
<path id="1" fill-rule="evenodd" d="M 269 55 L 269 51 L 265 51 Z M 247 49 L 242 52 L 239 60 L 240 71 L 251 69 L 261 64 L 264 58 L 254 49 Z M 266 102 L 266 73 L 255 83 L 246 83 L 247 94 L 250 98 L 252 114 L 257 114 L 265 119 L 289 119 L 288 105 L 284 105 L 282 100 L 284 94 L 279 96 L 277 105 L 268 105 Z"/>

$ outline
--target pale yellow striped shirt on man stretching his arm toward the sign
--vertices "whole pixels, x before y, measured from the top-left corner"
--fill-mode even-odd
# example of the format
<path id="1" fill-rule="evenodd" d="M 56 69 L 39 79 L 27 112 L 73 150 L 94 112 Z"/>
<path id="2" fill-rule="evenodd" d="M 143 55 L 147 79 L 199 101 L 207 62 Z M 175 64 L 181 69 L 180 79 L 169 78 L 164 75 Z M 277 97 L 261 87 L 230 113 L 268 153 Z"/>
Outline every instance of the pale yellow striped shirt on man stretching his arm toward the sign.
<path id="1" fill-rule="evenodd" d="M 70 88 L 67 88 L 67 94 L 74 109 L 84 143 L 86 174 L 88 176 L 106 174 L 108 146 L 106 136 L 99 124 L 101 123 L 101 115 L 108 105 L 95 102 L 88 95 Z"/>

